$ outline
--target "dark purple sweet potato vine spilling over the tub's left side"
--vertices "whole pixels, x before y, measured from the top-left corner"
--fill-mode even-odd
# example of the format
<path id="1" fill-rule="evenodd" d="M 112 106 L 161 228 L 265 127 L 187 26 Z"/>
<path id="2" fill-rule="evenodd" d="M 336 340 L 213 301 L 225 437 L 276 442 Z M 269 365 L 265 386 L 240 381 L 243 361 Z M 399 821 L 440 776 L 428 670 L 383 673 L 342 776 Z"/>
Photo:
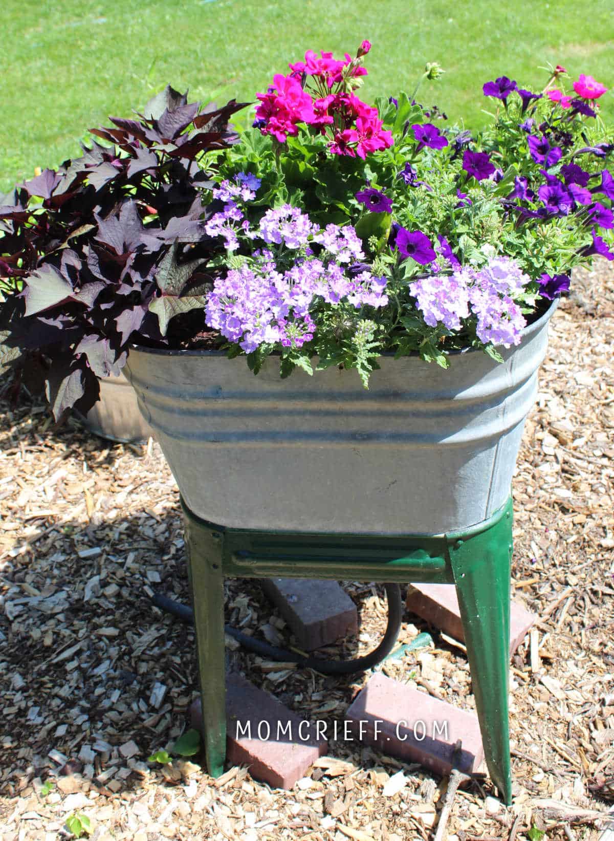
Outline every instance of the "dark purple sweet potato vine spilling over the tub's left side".
<path id="1" fill-rule="evenodd" d="M 42 361 L 56 420 L 93 406 L 98 377 L 119 373 L 131 342 L 177 346 L 202 330 L 190 311 L 221 246 L 204 231 L 220 207 L 201 201 L 213 182 L 198 159 L 236 142 L 229 119 L 245 105 L 200 108 L 167 86 L 139 119 L 91 130 L 112 145 L 93 141 L 0 196 L 0 278 L 13 287 L 0 364 Z"/>

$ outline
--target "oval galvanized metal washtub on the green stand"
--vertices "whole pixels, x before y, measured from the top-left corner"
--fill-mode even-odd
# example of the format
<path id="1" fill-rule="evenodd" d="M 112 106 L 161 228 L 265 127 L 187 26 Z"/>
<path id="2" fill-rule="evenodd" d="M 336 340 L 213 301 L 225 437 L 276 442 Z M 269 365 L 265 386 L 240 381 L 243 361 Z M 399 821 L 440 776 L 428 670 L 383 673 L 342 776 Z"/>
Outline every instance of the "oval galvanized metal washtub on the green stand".
<path id="1" fill-rule="evenodd" d="M 556 302 L 521 344 L 287 379 L 221 352 L 134 347 L 124 368 L 188 508 L 220 526 L 442 534 L 505 504 Z"/>

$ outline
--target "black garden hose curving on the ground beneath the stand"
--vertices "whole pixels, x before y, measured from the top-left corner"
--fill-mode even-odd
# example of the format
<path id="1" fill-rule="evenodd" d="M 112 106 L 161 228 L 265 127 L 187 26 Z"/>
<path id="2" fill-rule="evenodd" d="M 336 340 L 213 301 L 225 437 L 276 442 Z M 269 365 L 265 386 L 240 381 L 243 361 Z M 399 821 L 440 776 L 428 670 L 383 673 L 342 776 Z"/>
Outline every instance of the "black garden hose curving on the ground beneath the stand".
<path id="1" fill-rule="evenodd" d="M 316 672 L 320 672 L 320 674 L 353 674 L 355 672 L 363 672 L 367 669 L 372 669 L 373 666 L 376 666 L 387 657 L 399 637 L 403 614 L 400 587 L 399 584 L 384 584 L 384 589 L 386 590 L 386 598 L 388 600 L 388 626 L 386 627 L 386 632 L 377 648 L 373 648 L 372 652 L 357 659 L 321 660 L 316 657 L 304 657 L 302 654 L 297 654 L 294 651 L 287 651 L 285 648 L 277 648 L 277 646 L 263 643 L 262 640 L 254 639 L 254 637 L 237 631 L 236 628 L 230 625 L 225 625 L 224 630 L 229 637 L 233 637 L 238 643 L 241 643 L 243 648 L 248 648 L 254 653 L 261 654 L 262 657 L 277 660 L 281 663 L 296 663 L 301 669 L 314 669 Z M 151 602 L 162 611 L 167 611 L 167 613 L 177 616 L 183 622 L 187 622 L 188 624 L 193 624 L 194 622 L 191 607 L 182 605 L 178 601 L 173 601 L 166 595 L 154 593 Z"/>

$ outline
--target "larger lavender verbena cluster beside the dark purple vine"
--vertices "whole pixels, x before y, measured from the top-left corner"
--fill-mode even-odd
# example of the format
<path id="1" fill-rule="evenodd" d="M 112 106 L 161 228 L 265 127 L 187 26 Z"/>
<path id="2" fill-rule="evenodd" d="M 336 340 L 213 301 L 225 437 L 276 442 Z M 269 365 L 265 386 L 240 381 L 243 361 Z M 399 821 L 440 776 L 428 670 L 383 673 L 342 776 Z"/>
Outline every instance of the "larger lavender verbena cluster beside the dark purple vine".
<path id="1" fill-rule="evenodd" d="M 245 183 L 246 178 L 240 172 L 236 181 Z M 251 187 L 259 187 L 253 177 Z M 214 188 L 214 194 L 220 198 L 239 195 L 229 181 Z M 241 193 L 241 199 L 254 195 Z M 212 220 L 216 220 L 213 226 Z M 205 320 L 246 353 L 262 345 L 300 348 L 312 341 L 317 329 L 313 313 L 320 304 L 345 304 L 353 309 L 388 304 L 387 278 L 376 277 L 359 262 L 364 258 L 363 246 L 351 225 L 320 229 L 290 204 L 267 209 L 257 228 L 251 228 L 234 202 L 212 220 L 209 232 L 219 230 L 228 251 L 235 251 L 241 240 L 251 255 L 215 281 Z"/>

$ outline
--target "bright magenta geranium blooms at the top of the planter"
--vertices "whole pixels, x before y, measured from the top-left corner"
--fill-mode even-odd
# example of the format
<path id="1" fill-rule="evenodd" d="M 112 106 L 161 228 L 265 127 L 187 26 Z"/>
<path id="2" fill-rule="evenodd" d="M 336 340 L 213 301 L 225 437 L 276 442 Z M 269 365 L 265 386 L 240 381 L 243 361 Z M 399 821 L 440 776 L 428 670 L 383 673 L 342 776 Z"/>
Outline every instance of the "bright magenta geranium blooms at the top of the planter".
<path id="1" fill-rule="evenodd" d="M 383 129 L 378 109 L 353 93 L 357 87 L 354 80 L 367 75 L 362 60 L 370 48 L 365 40 L 356 58 L 346 53 L 342 61 L 329 52 L 317 56 L 307 50 L 304 61 L 289 64 L 292 72 L 288 76 L 278 73 L 267 93 L 257 93 L 260 105 L 254 125 L 279 143 L 285 143 L 288 135 L 298 135 L 299 124 L 314 126 L 328 138 L 333 155 L 364 159 L 371 152 L 389 148 L 393 137 Z"/>

